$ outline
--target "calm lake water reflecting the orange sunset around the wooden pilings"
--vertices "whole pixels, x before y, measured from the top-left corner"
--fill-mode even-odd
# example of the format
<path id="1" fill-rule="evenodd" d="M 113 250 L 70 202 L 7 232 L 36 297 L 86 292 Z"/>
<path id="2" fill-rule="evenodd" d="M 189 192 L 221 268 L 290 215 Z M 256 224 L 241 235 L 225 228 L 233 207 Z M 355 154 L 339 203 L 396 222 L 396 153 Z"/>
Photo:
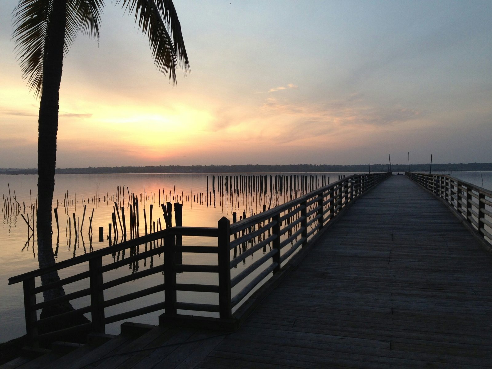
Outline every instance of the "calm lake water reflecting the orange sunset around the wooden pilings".
<path id="1" fill-rule="evenodd" d="M 323 180 L 331 183 L 338 180 L 339 175 L 348 176 L 353 173 L 282 173 L 283 176 L 307 176 L 307 181 L 312 181 L 314 186 L 320 186 Z M 492 188 L 492 172 L 454 172 L 445 173 L 460 178 L 485 188 Z M 234 183 L 235 176 L 267 176 L 267 189 L 262 193 L 245 193 L 244 191 L 231 192 L 231 179 Z M 108 223 L 112 222 L 114 202 L 125 209 L 126 222 L 129 222 L 130 198 L 136 196 L 139 202 L 139 235 L 145 234 L 145 222 L 143 210 L 146 210 L 148 222 L 150 221 L 150 208 L 153 207 L 152 222 L 155 226 L 164 228 L 164 219 L 160 204 L 163 202 L 183 203 L 183 225 L 216 227 L 218 219 L 226 216 L 233 221 L 232 214 L 237 213 L 237 219 L 243 212 L 247 216 L 260 213 L 263 206 L 267 209 L 277 206 L 292 198 L 306 193 L 301 185 L 296 186 L 296 191 L 282 191 L 270 193 L 270 176 L 277 173 L 263 174 L 89 174 L 89 175 L 57 175 L 53 207 L 57 208 L 59 216 L 59 229 L 55 217 L 53 217 L 53 243 L 56 247 L 57 261 L 72 258 L 92 250 L 109 246 Z M 229 191 L 220 192 L 218 177 L 229 176 Z M 311 177 L 313 176 L 313 177 Z M 207 182 L 208 177 L 208 182 Z M 213 178 L 215 177 L 215 180 Z M 482 184 L 483 181 L 483 184 Z M 32 232 L 28 231 L 26 220 L 32 222 L 31 204 L 36 204 L 36 175 L 6 176 L 0 175 L 0 193 L 2 193 L 0 226 L 0 293 L 2 304 L 0 307 L 0 342 L 25 334 L 22 284 L 8 286 L 8 278 L 37 269 L 36 242 Z M 208 187 L 207 187 L 208 184 Z M 215 196 L 213 193 L 215 187 Z M 207 191 L 208 188 L 208 191 Z M 7 209 L 5 208 L 7 204 Z M 17 203 L 17 211 L 11 211 L 12 205 Z M 15 207 L 15 205 L 13 206 Z M 84 215 L 85 210 L 85 215 Z M 89 217 L 92 215 L 92 238 L 89 235 Z M 77 242 L 75 242 L 75 229 L 73 217 L 79 224 Z M 24 218 L 26 220 L 24 220 Z M 83 221 L 83 226 L 81 227 Z M 173 211 L 173 225 L 174 211 Z M 104 227 L 104 242 L 99 242 L 98 228 Z M 149 227 L 151 225 L 149 224 Z M 114 229 L 112 236 L 115 236 Z M 111 242 L 115 242 L 112 237 Z M 128 238 L 128 237 L 127 237 Z M 121 237 L 116 240 L 121 242 Z M 184 244 L 185 240 L 184 240 Z M 201 254 L 202 258 L 206 258 Z M 250 262 L 250 261 L 249 261 Z M 191 261 L 193 263 L 193 261 Z M 201 264 L 213 263 L 213 260 L 199 260 Z M 143 266 L 142 266 L 143 267 Z M 238 265 L 238 272 L 244 266 Z M 131 273 L 131 270 L 121 268 L 118 275 Z M 181 276 L 185 278 L 185 276 Z M 135 288 L 139 288 L 138 281 Z M 111 292 L 108 292 L 108 297 Z M 194 299 L 202 297 L 194 297 Z M 206 299 L 206 297 L 203 297 Z M 209 303 L 207 301 L 200 301 Z M 157 314 L 158 315 L 158 314 Z M 141 321 L 149 324 L 157 324 L 156 314 L 142 318 L 133 318 L 132 321 Z M 118 333 L 119 324 L 107 326 L 108 333 Z"/>

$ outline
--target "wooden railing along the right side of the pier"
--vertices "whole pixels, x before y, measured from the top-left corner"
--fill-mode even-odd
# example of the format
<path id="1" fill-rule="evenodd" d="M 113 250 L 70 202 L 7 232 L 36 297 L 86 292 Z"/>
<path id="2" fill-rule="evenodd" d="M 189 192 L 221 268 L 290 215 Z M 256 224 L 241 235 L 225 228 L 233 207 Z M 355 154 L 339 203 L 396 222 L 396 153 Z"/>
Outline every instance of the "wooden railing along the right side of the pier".
<path id="1" fill-rule="evenodd" d="M 445 174 L 406 175 L 447 202 L 492 244 L 492 191 Z"/>

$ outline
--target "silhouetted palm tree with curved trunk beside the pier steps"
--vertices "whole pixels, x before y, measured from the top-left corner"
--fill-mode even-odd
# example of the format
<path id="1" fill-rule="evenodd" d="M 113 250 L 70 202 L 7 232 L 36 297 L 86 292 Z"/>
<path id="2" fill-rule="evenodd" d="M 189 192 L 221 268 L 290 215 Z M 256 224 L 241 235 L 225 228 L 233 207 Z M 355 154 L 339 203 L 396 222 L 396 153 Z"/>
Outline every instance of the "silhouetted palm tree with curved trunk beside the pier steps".
<path id="1" fill-rule="evenodd" d="M 176 68 L 189 70 L 181 26 L 171 0 L 115 0 L 133 13 L 149 37 L 157 69 L 176 83 Z M 13 37 L 23 78 L 40 98 L 38 118 L 37 247 L 39 267 L 55 264 L 51 207 L 55 187 L 59 90 L 63 57 L 79 31 L 98 38 L 103 0 L 20 0 L 14 10 Z M 42 284 L 59 280 L 54 273 Z M 43 293 L 45 301 L 64 295 L 63 289 Z M 69 305 L 69 304 L 68 304 Z M 71 306 L 59 307 L 64 310 Z M 44 311 L 43 311 L 44 312 Z M 47 312 L 47 314 L 54 311 Z"/>

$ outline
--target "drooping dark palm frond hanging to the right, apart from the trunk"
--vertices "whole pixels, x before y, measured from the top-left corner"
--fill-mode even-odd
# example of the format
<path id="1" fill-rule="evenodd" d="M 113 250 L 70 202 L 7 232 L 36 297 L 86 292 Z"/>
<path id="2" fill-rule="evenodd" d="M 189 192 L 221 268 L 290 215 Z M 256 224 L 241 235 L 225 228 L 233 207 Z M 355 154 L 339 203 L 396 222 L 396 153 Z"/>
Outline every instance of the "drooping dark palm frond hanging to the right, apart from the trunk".
<path id="1" fill-rule="evenodd" d="M 135 14 L 135 22 L 149 37 L 157 69 L 165 75 L 169 74 L 169 80 L 176 83 L 178 64 L 184 66 L 184 73 L 186 73 L 189 70 L 189 62 L 184 48 L 181 25 L 172 1 L 116 0 L 116 3 L 122 3 L 125 11 Z"/>

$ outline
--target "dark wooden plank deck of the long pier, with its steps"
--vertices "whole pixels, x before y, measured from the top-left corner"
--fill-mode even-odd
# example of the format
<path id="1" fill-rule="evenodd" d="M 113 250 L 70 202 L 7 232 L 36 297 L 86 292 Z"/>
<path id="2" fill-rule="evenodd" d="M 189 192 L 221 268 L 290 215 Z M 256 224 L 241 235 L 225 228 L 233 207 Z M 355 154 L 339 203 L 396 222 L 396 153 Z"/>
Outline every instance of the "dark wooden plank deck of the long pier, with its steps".
<path id="1" fill-rule="evenodd" d="M 53 350 L 49 357 L 21 358 L 18 364 L 491 368 L 487 241 L 477 241 L 407 176 L 391 176 L 352 202 L 337 223 L 297 254 L 292 271 L 275 288 L 253 294 L 262 301 L 235 332 L 125 324 L 122 334 L 106 343 L 101 339 L 107 335 L 95 334 L 68 355 Z"/>

